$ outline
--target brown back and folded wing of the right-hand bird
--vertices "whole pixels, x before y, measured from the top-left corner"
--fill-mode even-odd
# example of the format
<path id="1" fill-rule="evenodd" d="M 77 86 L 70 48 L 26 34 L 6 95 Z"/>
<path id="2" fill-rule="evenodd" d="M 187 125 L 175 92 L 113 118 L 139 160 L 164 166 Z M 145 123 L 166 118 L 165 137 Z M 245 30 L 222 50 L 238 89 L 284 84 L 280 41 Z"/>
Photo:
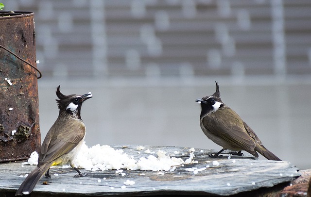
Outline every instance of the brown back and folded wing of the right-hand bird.
<path id="1" fill-rule="evenodd" d="M 202 121 L 203 125 L 207 125 L 206 129 L 209 132 L 222 138 L 232 147 L 238 147 L 251 154 L 256 154 L 254 151 L 256 147 L 254 139 L 244 129 L 242 119 L 233 110 L 219 109 L 208 117 L 203 118 Z"/>

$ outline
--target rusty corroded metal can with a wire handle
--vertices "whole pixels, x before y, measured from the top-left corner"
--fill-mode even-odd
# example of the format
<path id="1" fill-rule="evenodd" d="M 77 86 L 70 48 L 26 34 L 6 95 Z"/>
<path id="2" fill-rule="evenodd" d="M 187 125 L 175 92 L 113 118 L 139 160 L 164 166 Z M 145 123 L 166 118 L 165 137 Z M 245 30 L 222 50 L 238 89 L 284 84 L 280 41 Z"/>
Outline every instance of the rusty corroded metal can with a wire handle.
<path id="1" fill-rule="evenodd" d="M 36 67 L 34 14 L 1 14 L 0 45 Z M 26 159 L 39 149 L 38 109 L 36 70 L 0 49 L 0 162 Z"/>

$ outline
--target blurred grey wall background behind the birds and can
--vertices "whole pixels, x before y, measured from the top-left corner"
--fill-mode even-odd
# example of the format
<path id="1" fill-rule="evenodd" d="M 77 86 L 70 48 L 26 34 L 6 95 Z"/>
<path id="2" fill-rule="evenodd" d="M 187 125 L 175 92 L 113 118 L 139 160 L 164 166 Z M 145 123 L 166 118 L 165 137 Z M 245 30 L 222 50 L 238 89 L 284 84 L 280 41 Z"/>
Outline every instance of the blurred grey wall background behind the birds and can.
<path id="1" fill-rule="evenodd" d="M 310 0 L 3 0 L 35 13 L 42 139 L 64 94 L 82 108 L 86 145 L 221 147 L 195 99 L 222 100 L 266 148 L 311 168 Z M 260 157 L 260 159 L 264 159 Z"/>

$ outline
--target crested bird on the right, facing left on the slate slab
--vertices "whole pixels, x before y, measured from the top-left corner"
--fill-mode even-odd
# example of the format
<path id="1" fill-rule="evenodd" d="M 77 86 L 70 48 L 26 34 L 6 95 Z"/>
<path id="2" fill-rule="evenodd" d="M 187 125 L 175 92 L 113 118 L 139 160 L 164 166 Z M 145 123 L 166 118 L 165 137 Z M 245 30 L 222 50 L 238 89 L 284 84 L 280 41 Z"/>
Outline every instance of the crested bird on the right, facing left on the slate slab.
<path id="1" fill-rule="evenodd" d="M 260 153 L 268 160 L 281 161 L 262 145 L 259 137 L 242 118 L 222 101 L 217 82 L 213 95 L 195 101 L 201 104 L 200 127 L 202 131 L 210 140 L 223 147 L 216 154 L 209 155 L 210 157 L 222 157 L 220 153 L 228 149 L 238 151 L 231 152 L 234 155 L 242 156 L 242 150 L 244 150 L 257 158 Z"/>

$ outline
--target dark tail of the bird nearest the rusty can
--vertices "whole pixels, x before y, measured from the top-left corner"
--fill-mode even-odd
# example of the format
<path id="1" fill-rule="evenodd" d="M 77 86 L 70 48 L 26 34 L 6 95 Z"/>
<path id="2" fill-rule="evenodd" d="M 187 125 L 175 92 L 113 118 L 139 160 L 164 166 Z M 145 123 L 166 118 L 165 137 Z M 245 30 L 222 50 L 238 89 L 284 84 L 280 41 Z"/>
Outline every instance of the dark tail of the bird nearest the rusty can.
<path id="1" fill-rule="evenodd" d="M 42 175 L 50 168 L 49 164 L 36 167 L 19 186 L 15 196 L 30 194 Z"/>

